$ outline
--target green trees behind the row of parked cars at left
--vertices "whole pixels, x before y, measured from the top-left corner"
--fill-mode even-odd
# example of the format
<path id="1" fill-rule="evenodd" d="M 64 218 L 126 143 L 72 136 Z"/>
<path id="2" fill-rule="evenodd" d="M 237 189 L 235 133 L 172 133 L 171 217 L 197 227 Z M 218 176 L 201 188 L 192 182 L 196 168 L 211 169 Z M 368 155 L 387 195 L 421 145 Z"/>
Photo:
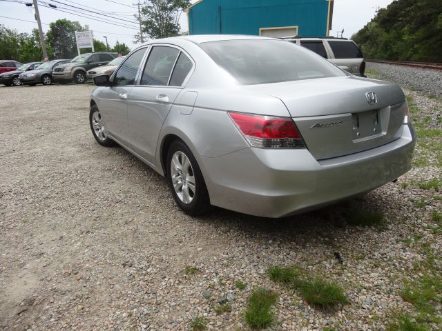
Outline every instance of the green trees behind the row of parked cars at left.
<path id="1" fill-rule="evenodd" d="M 75 31 L 87 31 L 88 26 L 81 26 L 77 21 L 57 19 L 50 23 L 44 38 L 49 59 L 73 59 L 78 55 Z M 125 43 L 115 43 L 109 47 L 94 39 L 95 52 L 122 52 L 126 55 L 130 48 Z M 81 53 L 91 52 L 91 48 L 81 48 Z M 41 61 L 42 50 L 39 30 L 32 29 L 30 33 L 19 33 L 17 30 L 0 25 L 0 59 L 13 59 L 22 63 Z"/>

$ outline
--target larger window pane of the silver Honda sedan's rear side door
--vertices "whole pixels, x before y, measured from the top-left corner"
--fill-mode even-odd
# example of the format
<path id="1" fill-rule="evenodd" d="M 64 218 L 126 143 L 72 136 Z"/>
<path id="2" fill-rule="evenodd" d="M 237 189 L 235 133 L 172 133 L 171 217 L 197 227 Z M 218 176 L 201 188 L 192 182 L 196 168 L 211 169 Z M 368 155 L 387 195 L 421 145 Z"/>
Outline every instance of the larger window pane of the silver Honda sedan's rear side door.
<path id="1" fill-rule="evenodd" d="M 146 62 L 141 80 L 142 85 L 167 85 L 179 53 L 180 51 L 176 48 L 155 46 Z"/>

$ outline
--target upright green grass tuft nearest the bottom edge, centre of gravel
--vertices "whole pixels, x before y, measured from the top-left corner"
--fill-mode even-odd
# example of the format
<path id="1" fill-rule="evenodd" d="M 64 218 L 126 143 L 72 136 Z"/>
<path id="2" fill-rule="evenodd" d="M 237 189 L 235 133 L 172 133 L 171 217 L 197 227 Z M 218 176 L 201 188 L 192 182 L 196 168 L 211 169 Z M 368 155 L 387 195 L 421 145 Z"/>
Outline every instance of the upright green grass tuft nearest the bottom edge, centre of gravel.
<path id="1" fill-rule="evenodd" d="M 247 324 L 251 328 L 267 328 L 275 321 L 275 314 L 271 312 L 278 295 L 266 288 L 253 290 L 249 297 L 249 305 L 245 312 Z"/>

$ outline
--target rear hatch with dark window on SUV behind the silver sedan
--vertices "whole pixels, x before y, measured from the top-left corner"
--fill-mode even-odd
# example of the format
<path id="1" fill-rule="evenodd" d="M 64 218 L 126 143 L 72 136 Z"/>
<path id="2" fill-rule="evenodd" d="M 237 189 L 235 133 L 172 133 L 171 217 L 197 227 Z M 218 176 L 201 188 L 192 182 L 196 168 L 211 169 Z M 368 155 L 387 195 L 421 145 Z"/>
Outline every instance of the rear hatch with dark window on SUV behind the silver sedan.
<path id="1" fill-rule="evenodd" d="M 331 53 L 330 61 L 344 70 L 361 75 L 361 65 L 364 61 L 361 50 L 352 40 L 327 40 Z"/>

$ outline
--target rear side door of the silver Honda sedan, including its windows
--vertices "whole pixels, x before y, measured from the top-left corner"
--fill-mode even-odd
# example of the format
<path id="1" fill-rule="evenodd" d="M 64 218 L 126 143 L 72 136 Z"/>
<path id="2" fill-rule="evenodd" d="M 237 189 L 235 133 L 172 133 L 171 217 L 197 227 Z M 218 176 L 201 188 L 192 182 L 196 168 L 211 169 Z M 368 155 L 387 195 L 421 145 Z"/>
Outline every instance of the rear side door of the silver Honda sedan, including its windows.
<path id="1" fill-rule="evenodd" d="M 180 94 L 193 62 L 182 50 L 168 45 L 153 46 L 140 85 L 131 91 L 128 126 L 137 154 L 155 164 L 155 152 L 162 124 Z"/>

